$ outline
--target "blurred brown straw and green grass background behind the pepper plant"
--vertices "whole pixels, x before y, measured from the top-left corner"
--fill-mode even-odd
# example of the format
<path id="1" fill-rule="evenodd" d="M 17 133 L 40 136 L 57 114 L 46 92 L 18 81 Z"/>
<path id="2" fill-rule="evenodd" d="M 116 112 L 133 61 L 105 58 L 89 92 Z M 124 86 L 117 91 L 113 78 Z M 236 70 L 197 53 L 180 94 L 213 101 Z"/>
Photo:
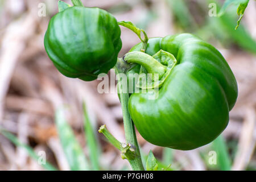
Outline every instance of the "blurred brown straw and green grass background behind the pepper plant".
<path id="1" fill-rule="evenodd" d="M 120 152 L 97 132 L 106 124 L 114 137 L 125 142 L 117 94 L 98 93 L 97 80 L 60 75 L 44 50 L 44 34 L 57 13 L 57 2 L 0 0 L 0 170 L 129 170 Z M 256 1 L 249 2 L 236 31 L 237 6 L 230 6 L 221 17 L 209 12 L 210 3 L 218 13 L 224 1 L 82 2 L 109 11 L 118 21 L 133 22 L 149 37 L 191 32 L 213 44 L 237 78 L 237 104 L 221 137 L 196 150 L 178 151 L 154 146 L 137 133 L 143 162 L 152 150 L 159 169 L 256 169 Z M 121 29 L 120 57 L 139 43 L 133 32 Z M 57 112 L 61 105 L 67 107 L 64 114 Z"/>

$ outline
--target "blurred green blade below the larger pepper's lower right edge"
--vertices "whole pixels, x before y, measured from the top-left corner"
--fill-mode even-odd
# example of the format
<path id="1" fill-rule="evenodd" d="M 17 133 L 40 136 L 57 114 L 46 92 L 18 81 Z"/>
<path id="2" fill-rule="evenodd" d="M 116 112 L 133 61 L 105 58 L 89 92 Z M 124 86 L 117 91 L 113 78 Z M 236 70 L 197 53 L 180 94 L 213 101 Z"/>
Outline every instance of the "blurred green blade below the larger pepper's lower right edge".
<path id="1" fill-rule="evenodd" d="M 217 154 L 217 165 L 222 171 L 229 171 L 232 162 L 229 158 L 225 140 L 221 135 L 212 142 L 212 148 Z"/>

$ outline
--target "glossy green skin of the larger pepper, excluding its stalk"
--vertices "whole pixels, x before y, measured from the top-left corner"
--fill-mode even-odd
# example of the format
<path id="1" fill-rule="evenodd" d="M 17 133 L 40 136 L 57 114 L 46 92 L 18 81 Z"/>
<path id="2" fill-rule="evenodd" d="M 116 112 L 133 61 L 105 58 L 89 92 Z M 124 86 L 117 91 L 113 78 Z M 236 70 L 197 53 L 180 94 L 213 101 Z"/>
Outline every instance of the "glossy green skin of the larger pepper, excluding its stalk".
<path id="1" fill-rule="evenodd" d="M 237 100 L 237 82 L 228 63 L 216 48 L 191 34 L 151 38 L 146 53 L 152 56 L 160 49 L 172 53 L 177 65 L 156 100 L 148 99 L 148 92 L 131 94 L 135 126 L 148 142 L 177 150 L 212 142 L 228 125 Z"/>

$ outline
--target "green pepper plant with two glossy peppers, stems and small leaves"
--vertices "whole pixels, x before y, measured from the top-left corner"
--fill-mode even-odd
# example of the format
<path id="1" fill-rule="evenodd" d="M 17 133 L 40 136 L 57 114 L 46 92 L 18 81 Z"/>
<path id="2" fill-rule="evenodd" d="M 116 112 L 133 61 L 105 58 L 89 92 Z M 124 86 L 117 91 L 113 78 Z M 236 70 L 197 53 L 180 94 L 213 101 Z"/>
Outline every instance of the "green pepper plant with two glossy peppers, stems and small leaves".
<path id="1" fill-rule="evenodd" d="M 115 139 L 105 125 L 99 132 L 121 151 L 131 168 L 144 170 L 134 124 L 148 142 L 177 150 L 204 146 L 222 133 L 238 89 L 216 48 L 192 34 L 148 39 L 131 22 L 117 22 L 105 10 L 84 7 L 80 0 L 72 3 L 59 2 L 59 13 L 50 20 L 44 38 L 46 52 L 67 77 L 92 81 L 115 69 L 126 143 Z M 142 41 L 122 58 L 118 58 L 119 26 L 129 28 Z M 157 168 L 150 152 L 146 169 Z"/>

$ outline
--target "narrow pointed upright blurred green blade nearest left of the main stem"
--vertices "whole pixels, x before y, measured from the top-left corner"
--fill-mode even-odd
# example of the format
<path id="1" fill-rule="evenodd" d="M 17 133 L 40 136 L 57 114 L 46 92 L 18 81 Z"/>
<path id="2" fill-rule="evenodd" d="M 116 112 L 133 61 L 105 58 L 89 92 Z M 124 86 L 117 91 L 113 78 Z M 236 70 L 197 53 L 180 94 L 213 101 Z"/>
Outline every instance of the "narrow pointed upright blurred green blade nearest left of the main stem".
<path id="1" fill-rule="evenodd" d="M 86 110 L 86 105 L 84 103 L 84 129 L 85 129 L 85 139 L 87 143 L 87 148 L 89 148 L 90 162 L 92 163 L 93 170 L 100 170 L 100 147 L 96 134 L 92 127 L 92 122 L 90 121 L 88 111 Z"/>

